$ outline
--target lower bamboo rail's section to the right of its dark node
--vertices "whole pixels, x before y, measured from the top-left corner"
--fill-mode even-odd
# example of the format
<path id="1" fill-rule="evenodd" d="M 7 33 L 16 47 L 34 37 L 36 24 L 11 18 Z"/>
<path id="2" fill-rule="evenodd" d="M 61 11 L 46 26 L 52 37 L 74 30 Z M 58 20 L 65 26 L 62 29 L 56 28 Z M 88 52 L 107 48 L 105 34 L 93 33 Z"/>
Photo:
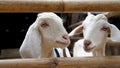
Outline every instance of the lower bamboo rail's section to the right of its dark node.
<path id="1" fill-rule="evenodd" d="M 119 68 L 119 58 L 119 56 L 58 58 L 56 68 Z"/>

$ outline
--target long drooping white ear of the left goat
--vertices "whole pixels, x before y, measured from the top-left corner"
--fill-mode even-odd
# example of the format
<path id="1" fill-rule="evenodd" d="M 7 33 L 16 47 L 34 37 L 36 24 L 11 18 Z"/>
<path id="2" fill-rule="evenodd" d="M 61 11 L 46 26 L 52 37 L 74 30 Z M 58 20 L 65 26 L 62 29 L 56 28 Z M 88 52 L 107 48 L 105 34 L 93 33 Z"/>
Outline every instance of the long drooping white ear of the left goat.
<path id="1" fill-rule="evenodd" d="M 32 24 L 25 36 L 25 39 L 20 47 L 20 55 L 22 57 L 39 57 L 41 50 L 41 35 L 35 23 Z"/>

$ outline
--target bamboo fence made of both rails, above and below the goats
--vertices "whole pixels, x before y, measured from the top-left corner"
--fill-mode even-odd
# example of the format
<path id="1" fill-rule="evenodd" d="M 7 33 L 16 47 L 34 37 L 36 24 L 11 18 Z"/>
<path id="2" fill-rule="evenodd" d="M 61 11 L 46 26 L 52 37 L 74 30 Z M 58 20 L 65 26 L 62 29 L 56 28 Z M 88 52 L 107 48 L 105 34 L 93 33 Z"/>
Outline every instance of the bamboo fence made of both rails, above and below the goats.
<path id="1" fill-rule="evenodd" d="M 0 12 L 120 11 L 119 0 L 0 0 Z M 120 56 L 5 59 L 0 68 L 120 68 Z"/>

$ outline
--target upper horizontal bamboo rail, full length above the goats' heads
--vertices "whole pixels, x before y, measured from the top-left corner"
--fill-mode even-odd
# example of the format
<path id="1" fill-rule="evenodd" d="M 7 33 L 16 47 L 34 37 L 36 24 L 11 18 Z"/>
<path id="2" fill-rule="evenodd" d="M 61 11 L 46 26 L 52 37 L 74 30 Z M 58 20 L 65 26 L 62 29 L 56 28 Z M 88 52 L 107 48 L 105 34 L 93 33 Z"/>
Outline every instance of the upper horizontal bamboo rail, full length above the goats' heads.
<path id="1" fill-rule="evenodd" d="M 119 0 L 0 0 L 0 12 L 120 11 Z"/>

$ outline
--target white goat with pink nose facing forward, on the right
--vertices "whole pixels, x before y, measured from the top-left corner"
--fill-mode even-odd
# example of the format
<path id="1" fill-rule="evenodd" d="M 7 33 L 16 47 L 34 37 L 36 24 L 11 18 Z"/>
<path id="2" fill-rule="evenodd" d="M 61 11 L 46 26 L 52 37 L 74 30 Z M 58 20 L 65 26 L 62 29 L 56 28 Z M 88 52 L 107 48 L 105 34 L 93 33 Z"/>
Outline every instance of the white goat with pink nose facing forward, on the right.
<path id="1" fill-rule="evenodd" d="M 69 36 L 72 36 L 83 32 L 84 36 L 82 40 L 75 43 L 73 56 L 105 56 L 105 45 L 107 37 L 111 33 L 111 28 L 112 26 L 108 23 L 107 17 L 104 14 L 98 14 L 95 16 L 88 13 L 88 16 L 83 21 L 82 25 L 76 27 L 71 33 L 69 33 Z"/>

